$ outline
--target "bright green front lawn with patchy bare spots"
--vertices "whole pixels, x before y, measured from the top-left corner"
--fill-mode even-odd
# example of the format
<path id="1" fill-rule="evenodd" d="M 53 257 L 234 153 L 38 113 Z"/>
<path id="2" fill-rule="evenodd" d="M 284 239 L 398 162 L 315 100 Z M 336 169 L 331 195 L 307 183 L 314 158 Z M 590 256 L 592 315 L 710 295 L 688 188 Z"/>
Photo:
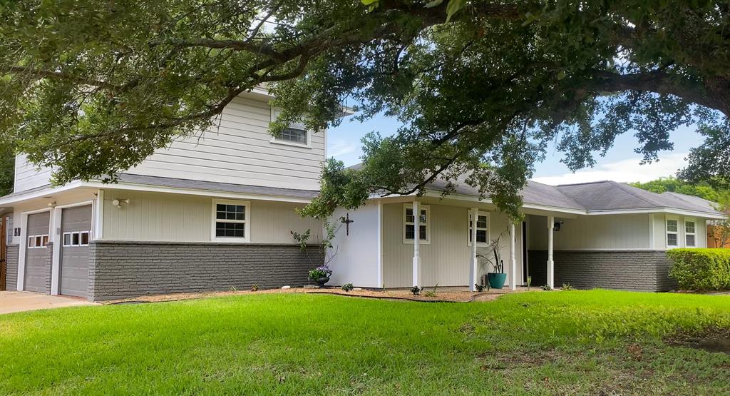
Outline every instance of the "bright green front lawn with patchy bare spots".
<path id="1" fill-rule="evenodd" d="M 730 297 L 426 303 L 260 294 L 0 316 L 0 394 L 727 394 Z"/>

